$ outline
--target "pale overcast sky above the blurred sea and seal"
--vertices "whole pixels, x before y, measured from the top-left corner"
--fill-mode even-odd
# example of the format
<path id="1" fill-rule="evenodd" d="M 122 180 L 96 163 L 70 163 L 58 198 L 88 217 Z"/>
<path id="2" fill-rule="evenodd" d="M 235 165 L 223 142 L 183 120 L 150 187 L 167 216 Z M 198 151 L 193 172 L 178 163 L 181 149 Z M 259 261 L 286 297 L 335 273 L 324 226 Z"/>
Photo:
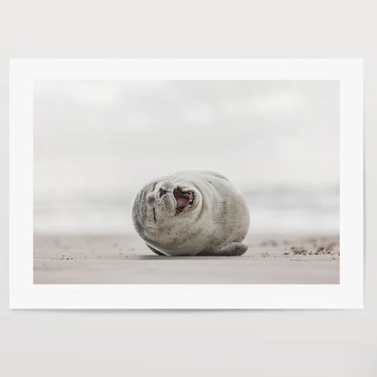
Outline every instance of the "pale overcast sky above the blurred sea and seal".
<path id="1" fill-rule="evenodd" d="M 132 195 L 180 169 L 240 189 L 339 179 L 333 81 L 39 81 L 35 200 Z"/>

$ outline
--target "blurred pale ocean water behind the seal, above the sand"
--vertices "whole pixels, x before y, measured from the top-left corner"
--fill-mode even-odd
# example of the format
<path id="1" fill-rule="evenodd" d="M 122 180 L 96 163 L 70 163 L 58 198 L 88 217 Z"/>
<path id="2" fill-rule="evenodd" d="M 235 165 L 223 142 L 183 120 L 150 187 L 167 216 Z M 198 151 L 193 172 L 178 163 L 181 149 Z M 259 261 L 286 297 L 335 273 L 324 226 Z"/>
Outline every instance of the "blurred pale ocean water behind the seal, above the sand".
<path id="1" fill-rule="evenodd" d="M 339 188 L 244 190 L 250 232 L 268 235 L 339 233 Z M 38 234 L 126 234 L 134 232 L 133 195 L 43 198 L 34 201 Z"/>

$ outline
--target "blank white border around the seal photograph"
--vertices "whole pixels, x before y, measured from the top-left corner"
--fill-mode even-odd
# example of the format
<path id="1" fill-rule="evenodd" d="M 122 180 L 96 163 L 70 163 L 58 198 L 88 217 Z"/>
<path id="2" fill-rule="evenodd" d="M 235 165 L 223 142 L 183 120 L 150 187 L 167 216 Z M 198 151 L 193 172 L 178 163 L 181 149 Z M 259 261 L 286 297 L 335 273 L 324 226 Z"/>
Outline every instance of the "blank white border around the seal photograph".
<path id="1" fill-rule="evenodd" d="M 340 82 L 339 285 L 34 285 L 35 80 L 337 80 Z M 362 60 L 12 59 L 10 307 L 309 309 L 363 306 Z"/>

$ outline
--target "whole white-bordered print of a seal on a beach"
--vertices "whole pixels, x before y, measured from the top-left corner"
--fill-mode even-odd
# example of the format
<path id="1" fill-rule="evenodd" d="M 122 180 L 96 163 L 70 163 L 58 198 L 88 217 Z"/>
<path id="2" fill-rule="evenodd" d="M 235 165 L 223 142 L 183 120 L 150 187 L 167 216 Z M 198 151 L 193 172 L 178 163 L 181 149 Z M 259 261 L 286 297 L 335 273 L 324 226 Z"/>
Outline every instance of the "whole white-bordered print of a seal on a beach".
<path id="1" fill-rule="evenodd" d="M 362 308 L 362 61 L 13 59 L 11 308 Z"/>

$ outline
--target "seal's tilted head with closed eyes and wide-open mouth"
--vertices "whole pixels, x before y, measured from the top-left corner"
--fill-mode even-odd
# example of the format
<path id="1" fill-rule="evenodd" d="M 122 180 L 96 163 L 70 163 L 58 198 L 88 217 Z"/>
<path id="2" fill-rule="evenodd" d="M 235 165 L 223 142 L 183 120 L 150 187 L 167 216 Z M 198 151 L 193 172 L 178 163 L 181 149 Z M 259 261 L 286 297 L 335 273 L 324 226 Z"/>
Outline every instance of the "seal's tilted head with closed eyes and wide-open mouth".
<path id="1" fill-rule="evenodd" d="M 152 181 L 140 190 L 133 202 L 133 224 L 142 238 L 153 241 L 161 231 L 187 225 L 188 218 L 201 207 L 201 201 L 200 191 L 188 181 Z"/>

